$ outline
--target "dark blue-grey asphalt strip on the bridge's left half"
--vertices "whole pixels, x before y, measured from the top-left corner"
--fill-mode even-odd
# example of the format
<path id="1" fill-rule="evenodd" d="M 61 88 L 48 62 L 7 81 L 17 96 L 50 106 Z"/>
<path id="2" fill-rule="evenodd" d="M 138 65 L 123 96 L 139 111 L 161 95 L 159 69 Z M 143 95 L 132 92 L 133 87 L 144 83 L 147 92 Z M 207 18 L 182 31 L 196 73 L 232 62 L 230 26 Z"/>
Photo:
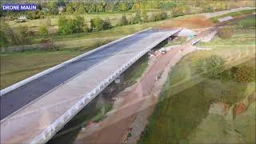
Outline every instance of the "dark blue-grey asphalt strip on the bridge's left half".
<path id="1" fill-rule="evenodd" d="M 73 78 L 82 71 L 90 69 L 91 66 L 94 66 L 98 62 L 102 62 L 111 55 L 118 53 L 118 51 L 126 49 L 130 44 L 138 42 L 140 39 L 145 38 L 150 34 L 154 34 L 154 31 L 156 30 L 146 30 L 129 38 L 125 38 L 122 41 L 114 42 L 110 46 L 104 47 L 102 50 L 95 51 L 76 62 L 72 62 L 61 69 L 54 70 L 16 90 L 3 94 L 0 97 L 1 120 L 14 113 L 16 110 L 19 110 L 22 106 L 26 106 L 26 104 L 32 102 L 34 99 L 39 98 L 42 94 L 46 94 L 48 91 L 53 90 L 54 87 Z"/>

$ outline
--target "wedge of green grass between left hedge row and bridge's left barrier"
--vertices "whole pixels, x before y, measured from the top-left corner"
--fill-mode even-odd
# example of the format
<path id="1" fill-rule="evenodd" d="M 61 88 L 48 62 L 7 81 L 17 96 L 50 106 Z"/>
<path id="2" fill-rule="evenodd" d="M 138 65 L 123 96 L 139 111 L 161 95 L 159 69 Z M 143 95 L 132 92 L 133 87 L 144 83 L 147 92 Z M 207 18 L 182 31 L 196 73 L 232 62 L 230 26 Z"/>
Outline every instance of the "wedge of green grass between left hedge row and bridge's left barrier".
<path id="1" fill-rule="evenodd" d="M 51 66 L 74 58 L 81 51 L 23 52 L 1 54 L 1 90 Z"/>

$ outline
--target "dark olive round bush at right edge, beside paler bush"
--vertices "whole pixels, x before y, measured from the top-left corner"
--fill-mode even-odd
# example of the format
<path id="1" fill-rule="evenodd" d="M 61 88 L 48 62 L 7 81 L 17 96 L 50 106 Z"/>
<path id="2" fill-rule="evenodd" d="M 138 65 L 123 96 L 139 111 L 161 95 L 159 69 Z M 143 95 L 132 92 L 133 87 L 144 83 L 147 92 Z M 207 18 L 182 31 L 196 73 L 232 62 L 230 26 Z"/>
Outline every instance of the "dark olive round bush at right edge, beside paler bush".
<path id="1" fill-rule="evenodd" d="M 255 70 L 250 66 L 240 66 L 234 74 L 234 80 L 241 83 L 254 82 Z"/>

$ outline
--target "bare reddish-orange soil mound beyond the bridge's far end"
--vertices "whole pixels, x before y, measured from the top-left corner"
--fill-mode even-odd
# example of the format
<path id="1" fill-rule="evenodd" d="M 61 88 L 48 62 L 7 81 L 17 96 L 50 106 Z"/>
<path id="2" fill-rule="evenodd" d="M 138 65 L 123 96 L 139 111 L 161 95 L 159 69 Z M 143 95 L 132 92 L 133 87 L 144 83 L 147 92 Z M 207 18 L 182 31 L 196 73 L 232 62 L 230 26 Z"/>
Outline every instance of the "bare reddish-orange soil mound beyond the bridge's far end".
<path id="1" fill-rule="evenodd" d="M 165 22 L 164 26 L 156 26 L 155 28 L 170 29 L 185 27 L 190 29 L 196 29 L 210 26 L 214 26 L 214 23 L 211 22 L 210 19 L 206 19 L 206 17 L 203 15 L 196 15 L 184 19 L 169 19 Z"/>

